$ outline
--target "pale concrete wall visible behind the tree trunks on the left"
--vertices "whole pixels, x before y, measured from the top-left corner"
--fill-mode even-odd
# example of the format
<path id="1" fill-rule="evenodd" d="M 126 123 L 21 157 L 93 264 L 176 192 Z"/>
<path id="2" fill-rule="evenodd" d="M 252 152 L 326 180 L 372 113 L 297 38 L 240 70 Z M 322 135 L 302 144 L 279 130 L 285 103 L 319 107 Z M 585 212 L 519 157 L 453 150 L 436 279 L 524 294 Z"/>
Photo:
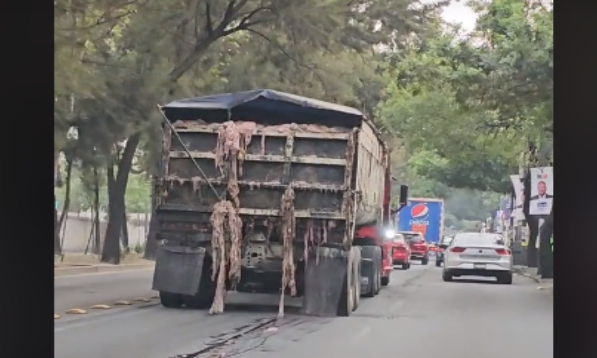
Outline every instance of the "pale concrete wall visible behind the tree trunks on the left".
<path id="1" fill-rule="evenodd" d="M 60 212 L 58 213 L 60 218 Z M 128 214 L 128 245 L 131 249 L 139 245 L 145 245 L 147 240 L 147 231 L 149 230 L 149 214 Z M 65 253 L 82 253 L 85 252 L 87 246 L 87 240 L 91 232 L 93 221 L 91 220 L 90 212 L 69 212 L 66 220 L 66 230 L 61 231 L 61 235 L 64 233 L 63 239 L 63 252 Z M 100 237 L 101 245 L 104 242 L 104 234 L 106 233 L 106 214 L 100 215 Z M 62 237 L 62 236 L 61 236 Z M 93 248 L 94 238 L 91 238 L 90 252 Z"/>

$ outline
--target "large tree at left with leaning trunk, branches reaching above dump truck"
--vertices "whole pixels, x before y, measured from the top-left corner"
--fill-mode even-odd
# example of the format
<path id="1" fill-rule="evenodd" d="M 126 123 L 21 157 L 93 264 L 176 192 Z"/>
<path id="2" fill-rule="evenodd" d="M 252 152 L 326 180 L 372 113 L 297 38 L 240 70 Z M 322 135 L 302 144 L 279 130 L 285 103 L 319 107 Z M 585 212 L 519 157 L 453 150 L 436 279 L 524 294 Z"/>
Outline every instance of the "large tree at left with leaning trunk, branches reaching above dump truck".
<path id="1" fill-rule="evenodd" d="M 80 155 L 104 161 L 109 223 L 102 260 L 119 262 L 128 173 L 146 132 L 158 124 L 155 104 L 223 87 L 217 69 L 226 51 L 231 51 L 227 39 L 245 39 L 245 45 L 259 39 L 292 58 L 295 66 L 311 70 L 305 64 L 311 51 L 317 55 L 309 60 L 321 65 L 330 54 L 345 49 L 352 51 L 346 57 L 370 53 L 373 45 L 391 44 L 420 31 L 439 5 L 413 4 L 413 0 L 56 1 L 57 73 L 64 75 L 57 84 L 56 132 L 60 137 L 62 124 L 77 126 L 85 137 Z M 313 78 L 321 77 L 311 72 Z M 318 88 L 314 82 L 309 79 L 307 87 Z M 280 83 L 282 90 L 291 88 L 288 81 Z M 377 96 L 374 89 L 357 88 L 368 96 L 362 106 L 371 110 Z M 344 90 L 336 93 L 350 101 Z"/>

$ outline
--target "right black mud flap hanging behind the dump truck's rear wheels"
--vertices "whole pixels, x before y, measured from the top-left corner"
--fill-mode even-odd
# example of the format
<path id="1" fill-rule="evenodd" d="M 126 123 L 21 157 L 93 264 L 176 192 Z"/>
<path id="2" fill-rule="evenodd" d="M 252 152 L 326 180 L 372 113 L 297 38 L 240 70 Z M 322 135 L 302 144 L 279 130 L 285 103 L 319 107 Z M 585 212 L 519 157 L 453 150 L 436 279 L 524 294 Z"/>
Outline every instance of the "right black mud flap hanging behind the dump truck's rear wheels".
<path id="1" fill-rule="evenodd" d="M 304 278 L 304 314 L 320 317 L 337 315 L 348 259 L 349 253 L 343 249 L 309 249 Z"/>

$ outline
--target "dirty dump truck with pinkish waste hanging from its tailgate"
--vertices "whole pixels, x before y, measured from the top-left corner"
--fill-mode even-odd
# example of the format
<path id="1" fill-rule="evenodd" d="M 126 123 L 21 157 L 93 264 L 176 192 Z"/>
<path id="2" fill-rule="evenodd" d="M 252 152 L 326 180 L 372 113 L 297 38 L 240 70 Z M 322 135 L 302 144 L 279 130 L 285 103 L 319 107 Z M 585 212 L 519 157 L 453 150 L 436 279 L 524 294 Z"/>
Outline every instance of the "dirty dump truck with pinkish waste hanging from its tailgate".
<path id="1" fill-rule="evenodd" d="M 272 90 L 159 111 L 149 237 L 162 305 L 222 313 L 235 290 L 280 294 L 280 316 L 286 295 L 305 314 L 349 316 L 389 283 L 389 150 L 361 112 Z"/>

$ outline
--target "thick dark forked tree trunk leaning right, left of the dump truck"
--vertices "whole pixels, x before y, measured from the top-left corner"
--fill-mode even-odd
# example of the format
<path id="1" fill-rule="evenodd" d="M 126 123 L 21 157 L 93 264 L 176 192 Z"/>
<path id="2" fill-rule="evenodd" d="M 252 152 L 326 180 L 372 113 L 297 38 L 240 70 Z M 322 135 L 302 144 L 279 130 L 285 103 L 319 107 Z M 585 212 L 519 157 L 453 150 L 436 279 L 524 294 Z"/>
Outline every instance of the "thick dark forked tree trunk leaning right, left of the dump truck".
<path id="1" fill-rule="evenodd" d="M 104 237 L 104 249 L 101 253 L 101 262 L 104 263 L 120 263 L 120 237 L 122 219 L 126 209 L 124 195 L 127 192 L 128 174 L 131 172 L 133 158 L 140 138 L 140 132 L 128 137 L 127 145 L 118 163 L 116 175 L 114 174 L 113 165 L 108 165 L 107 168 L 108 224 Z"/>

